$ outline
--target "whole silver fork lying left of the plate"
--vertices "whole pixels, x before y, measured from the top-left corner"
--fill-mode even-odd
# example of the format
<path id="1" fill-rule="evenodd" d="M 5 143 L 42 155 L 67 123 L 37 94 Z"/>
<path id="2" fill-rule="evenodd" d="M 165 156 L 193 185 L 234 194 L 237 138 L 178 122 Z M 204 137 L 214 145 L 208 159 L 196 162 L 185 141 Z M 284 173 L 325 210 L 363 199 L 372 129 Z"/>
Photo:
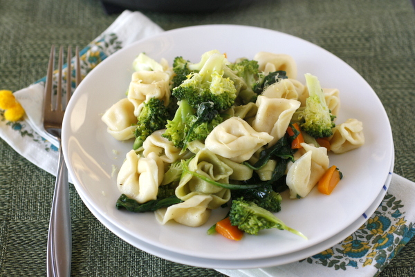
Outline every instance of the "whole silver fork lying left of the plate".
<path id="1" fill-rule="evenodd" d="M 69 207 L 68 169 L 62 154 L 61 130 L 66 105 L 71 98 L 71 47 L 68 47 L 66 67 L 66 101 L 62 103 L 62 67 L 63 48 L 59 48 L 58 77 L 56 95 L 53 95 L 53 64 L 55 61 L 55 46 L 50 50 L 48 73 L 46 75 L 44 93 L 43 122 L 45 131 L 59 141 L 59 163 L 53 194 L 52 211 L 48 231 L 48 248 L 46 254 L 47 276 L 70 276 L 72 256 L 71 213 Z M 76 48 L 75 85 L 80 83 L 80 54 Z M 55 96 L 55 97 L 54 97 Z"/>

